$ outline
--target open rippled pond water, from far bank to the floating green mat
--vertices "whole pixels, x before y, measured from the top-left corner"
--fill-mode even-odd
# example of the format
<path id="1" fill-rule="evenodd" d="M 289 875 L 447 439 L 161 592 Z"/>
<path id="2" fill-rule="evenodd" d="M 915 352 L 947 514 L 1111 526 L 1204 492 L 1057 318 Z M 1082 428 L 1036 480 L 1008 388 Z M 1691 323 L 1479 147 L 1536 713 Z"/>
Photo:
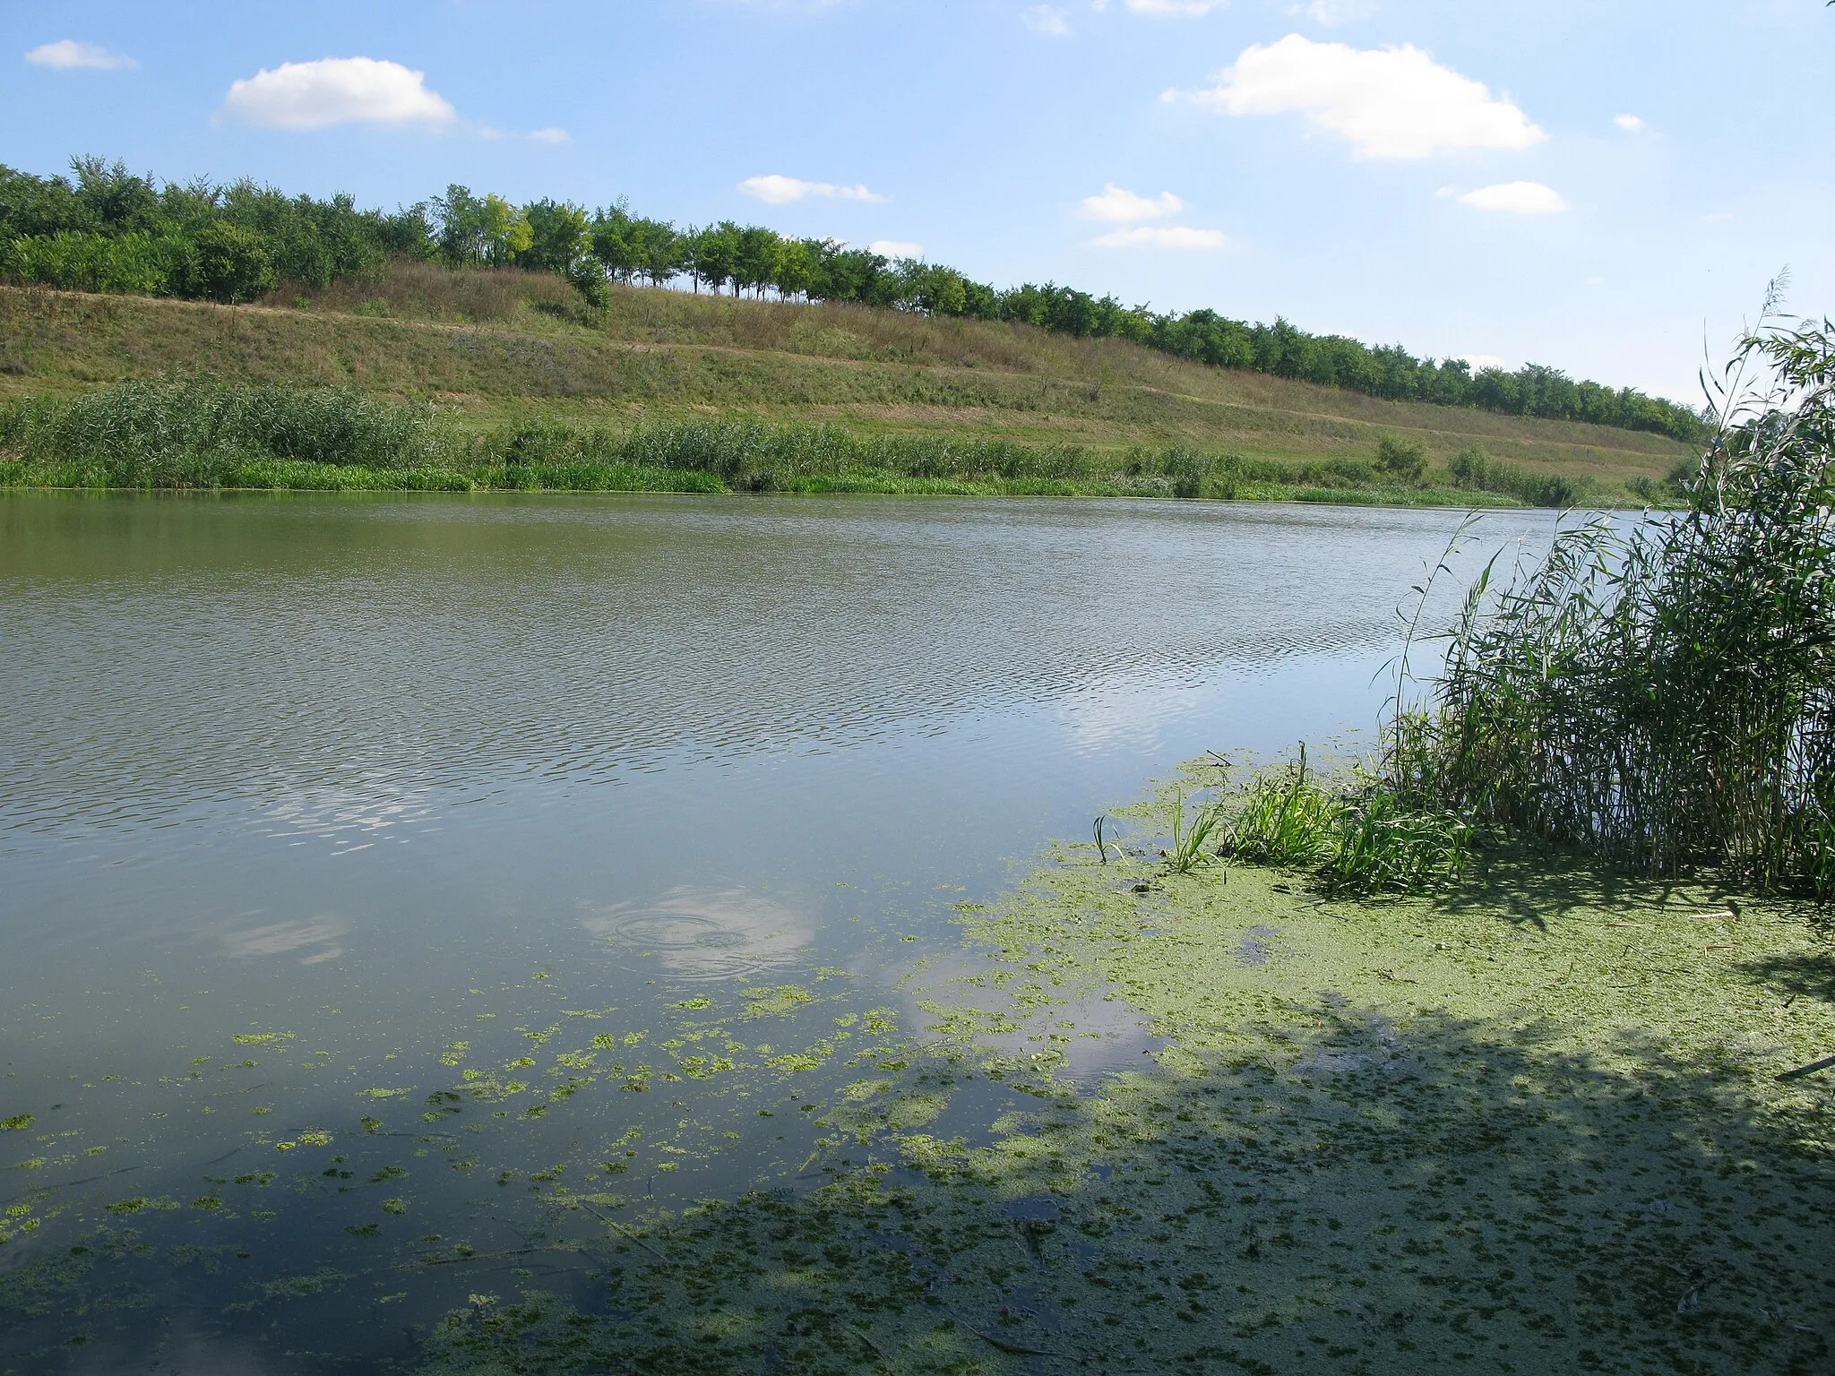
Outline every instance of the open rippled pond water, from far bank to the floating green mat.
<path id="1" fill-rule="evenodd" d="M 0 1369 L 373 1369 L 598 1216 L 818 1180 L 952 904 L 1369 727 L 1457 521 L 0 499 Z"/>

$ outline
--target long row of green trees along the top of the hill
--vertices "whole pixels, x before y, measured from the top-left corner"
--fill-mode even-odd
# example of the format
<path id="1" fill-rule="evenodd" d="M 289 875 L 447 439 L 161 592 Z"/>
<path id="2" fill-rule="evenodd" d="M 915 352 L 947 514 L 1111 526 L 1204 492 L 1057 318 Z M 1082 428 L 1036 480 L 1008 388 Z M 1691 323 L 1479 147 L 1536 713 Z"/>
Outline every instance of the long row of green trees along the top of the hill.
<path id="1" fill-rule="evenodd" d="M 237 303 L 283 284 L 325 286 L 374 272 L 391 257 L 550 272 L 595 305 L 606 303 L 613 281 L 688 281 L 697 292 L 850 301 L 1130 339 L 1213 367 L 1398 402 L 1584 420 L 1681 440 L 1705 433 L 1703 418 L 1685 405 L 1629 387 L 1574 382 L 1536 363 L 1474 372 L 1464 360 L 1308 334 L 1284 319 L 1261 325 L 1215 310 L 1162 314 L 1055 283 L 996 290 L 954 268 L 892 261 L 833 239 L 787 239 L 732 220 L 677 227 L 631 215 L 624 202 L 598 211 L 554 200 L 516 205 L 451 185 L 444 196 L 384 213 L 360 211 L 345 194 L 286 196 L 248 180 L 156 185 L 101 158 L 73 160 L 70 178 L 0 165 L 0 277 L 15 283 Z"/>

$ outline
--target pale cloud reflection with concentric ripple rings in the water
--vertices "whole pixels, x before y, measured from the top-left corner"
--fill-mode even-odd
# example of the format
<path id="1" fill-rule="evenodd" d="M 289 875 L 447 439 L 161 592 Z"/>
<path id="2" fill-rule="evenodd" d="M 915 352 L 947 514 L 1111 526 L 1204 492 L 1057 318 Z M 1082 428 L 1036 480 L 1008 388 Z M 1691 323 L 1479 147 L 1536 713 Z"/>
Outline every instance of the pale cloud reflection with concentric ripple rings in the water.
<path id="1" fill-rule="evenodd" d="M 580 925 L 661 960 L 684 980 L 725 980 L 793 963 L 815 939 L 806 914 L 740 888 L 668 890 L 655 903 L 587 908 Z"/>

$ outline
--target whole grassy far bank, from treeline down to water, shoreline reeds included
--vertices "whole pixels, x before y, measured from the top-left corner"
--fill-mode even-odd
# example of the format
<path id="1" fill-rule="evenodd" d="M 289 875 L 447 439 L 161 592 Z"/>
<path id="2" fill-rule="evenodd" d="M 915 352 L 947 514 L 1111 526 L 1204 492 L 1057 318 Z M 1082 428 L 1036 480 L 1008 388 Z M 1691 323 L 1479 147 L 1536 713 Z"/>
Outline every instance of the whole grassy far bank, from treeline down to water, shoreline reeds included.
<path id="1" fill-rule="evenodd" d="M 418 435 L 352 462 L 327 444 L 336 426 L 301 459 L 191 424 L 160 464 L 110 468 L 42 424 L 53 404 L 180 372 L 328 385 Z M 593 310 L 560 279 L 424 264 L 264 306 L 0 288 L 0 396 L 13 484 L 1631 503 L 1663 499 L 1688 457 L 1657 435 L 1380 402 L 1116 339 L 635 288 Z M 1378 466 L 1385 437 L 1418 446 L 1418 475 Z M 217 459 L 200 466 L 200 444 Z M 1455 477 L 1474 449 L 1485 472 Z"/>

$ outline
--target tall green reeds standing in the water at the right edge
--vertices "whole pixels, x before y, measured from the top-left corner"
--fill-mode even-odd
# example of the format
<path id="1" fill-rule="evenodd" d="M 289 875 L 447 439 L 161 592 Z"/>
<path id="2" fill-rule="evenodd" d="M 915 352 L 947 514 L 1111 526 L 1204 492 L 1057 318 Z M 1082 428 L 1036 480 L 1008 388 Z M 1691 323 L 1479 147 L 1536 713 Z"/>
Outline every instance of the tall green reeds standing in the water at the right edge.
<path id="1" fill-rule="evenodd" d="M 1769 371 L 1751 383 L 1749 371 Z M 1835 893 L 1835 338 L 1751 338 L 1672 519 L 1563 530 L 1485 578 L 1389 774 L 1631 868 Z"/>

